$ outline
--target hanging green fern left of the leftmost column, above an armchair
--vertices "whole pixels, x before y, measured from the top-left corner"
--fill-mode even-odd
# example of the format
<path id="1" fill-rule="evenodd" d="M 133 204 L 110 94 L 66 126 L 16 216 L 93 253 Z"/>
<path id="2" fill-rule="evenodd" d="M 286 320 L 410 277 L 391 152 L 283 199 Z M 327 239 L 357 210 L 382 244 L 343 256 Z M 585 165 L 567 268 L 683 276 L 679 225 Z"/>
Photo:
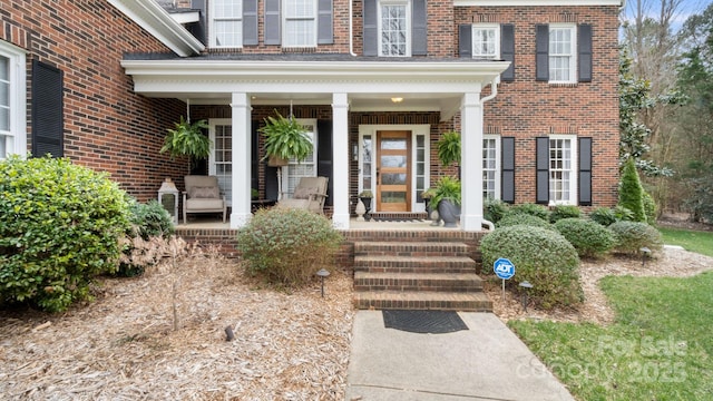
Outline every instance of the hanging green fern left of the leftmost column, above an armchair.
<path id="1" fill-rule="evenodd" d="M 206 158 L 211 155 L 213 143 L 202 131 L 202 129 L 208 128 L 206 120 L 191 124 L 180 116 L 180 121 L 175 123 L 175 129 L 166 129 L 168 134 L 164 140 L 164 146 L 160 148 L 162 154 L 168 151 L 170 158 L 179 156 Z"/>

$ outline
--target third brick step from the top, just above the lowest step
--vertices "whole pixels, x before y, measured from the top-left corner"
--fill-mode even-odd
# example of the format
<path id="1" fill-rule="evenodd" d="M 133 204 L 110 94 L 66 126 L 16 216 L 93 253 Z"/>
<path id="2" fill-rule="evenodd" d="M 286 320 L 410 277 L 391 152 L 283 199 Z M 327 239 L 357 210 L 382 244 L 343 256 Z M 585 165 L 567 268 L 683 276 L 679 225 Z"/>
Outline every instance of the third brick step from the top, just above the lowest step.
<path id="1" fill-rule="evenodd" d="M 482 291 L 475 273 L 371 273 L 354 272 L 354 291 Z"/>

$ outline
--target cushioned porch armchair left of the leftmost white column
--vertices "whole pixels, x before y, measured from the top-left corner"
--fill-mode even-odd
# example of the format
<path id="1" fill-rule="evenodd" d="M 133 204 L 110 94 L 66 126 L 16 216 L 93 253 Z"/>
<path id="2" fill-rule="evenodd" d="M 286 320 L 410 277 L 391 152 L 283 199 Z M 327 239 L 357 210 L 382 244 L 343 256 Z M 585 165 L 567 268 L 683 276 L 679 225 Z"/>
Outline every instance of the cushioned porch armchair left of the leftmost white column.
<path id="1" fill-rule="evenodd" d="M 223 212 L 223 223 L 227 215 L 225 196 L 221 196 L 218 177 L 185 176 L 186 190 L 183 193 L 183 223 L 187 223 L 189 213 Z"/>

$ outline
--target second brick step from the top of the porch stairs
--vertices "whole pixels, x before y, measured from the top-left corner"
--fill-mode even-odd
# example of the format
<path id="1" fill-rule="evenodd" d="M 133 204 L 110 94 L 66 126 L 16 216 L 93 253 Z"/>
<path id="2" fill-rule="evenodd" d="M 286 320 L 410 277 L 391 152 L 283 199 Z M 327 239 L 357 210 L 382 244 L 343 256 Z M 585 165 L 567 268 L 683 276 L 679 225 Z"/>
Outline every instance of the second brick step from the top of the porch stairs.
<path id="1" fill-rule="evenodd" d="M 465 256 L 354 256 L 355 272 L 476 273 L 476 262 Z"/>

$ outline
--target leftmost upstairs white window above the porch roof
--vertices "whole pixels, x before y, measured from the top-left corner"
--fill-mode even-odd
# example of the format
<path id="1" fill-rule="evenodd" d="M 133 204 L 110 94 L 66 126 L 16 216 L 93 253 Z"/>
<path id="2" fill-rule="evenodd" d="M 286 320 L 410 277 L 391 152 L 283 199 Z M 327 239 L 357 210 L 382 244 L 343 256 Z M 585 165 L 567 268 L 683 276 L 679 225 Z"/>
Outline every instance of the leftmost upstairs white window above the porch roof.
<path id="1" fill-rule="evenodd" d="M 216 48 L 243 47 L 243 1 L 213 0 L 211 46 Z"/>

